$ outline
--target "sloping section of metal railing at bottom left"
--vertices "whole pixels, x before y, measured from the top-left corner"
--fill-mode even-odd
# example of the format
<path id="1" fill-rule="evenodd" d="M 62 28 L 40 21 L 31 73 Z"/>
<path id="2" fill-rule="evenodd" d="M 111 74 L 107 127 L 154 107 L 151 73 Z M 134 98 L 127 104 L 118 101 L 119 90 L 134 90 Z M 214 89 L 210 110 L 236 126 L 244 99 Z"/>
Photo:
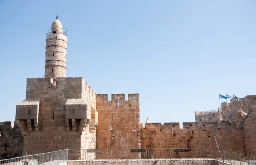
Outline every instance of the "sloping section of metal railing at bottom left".
<path id="1" fill-rule="evenodd" d="M 0 165 L 60 165 L 67 162 L 68 149 L 0 160 Z"/>

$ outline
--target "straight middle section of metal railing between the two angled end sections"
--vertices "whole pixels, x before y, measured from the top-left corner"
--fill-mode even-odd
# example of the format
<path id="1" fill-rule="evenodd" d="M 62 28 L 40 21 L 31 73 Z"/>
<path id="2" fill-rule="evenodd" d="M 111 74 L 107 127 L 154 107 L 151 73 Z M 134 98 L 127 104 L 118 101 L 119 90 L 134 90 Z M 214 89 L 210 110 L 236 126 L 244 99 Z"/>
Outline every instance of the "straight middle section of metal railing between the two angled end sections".
<path id="1" fill-rule="evenodd" d="M 212 149 L 188 149 L 187 152 L 174 148 L 141 149 L 143 152 L 132 152 L 131 149 L 102 149 L 88 152 L 87 149 L 71 149 L 69 160 L 90 159 L 180 159 L 180 158 L 214 158 Z"/>

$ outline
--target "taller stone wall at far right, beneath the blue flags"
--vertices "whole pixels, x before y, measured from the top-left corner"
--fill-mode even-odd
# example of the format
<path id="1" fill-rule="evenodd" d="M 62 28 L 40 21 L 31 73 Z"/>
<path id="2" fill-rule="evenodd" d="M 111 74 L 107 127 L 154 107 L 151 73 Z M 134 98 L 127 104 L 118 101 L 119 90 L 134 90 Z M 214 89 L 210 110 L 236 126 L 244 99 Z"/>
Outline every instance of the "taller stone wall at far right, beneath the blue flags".
<path id="1" fill-rule="evenodd" d="M 250 114 L 246 118 L 249 112 Z M 247 95 L 244 98 L 233 98 L 228 104 L 227 102 L 223 102 L 221 103 L 221 108 L 215 113 L 204 114 L 204 112 L 195 112 L 195 121 L 200 122 L 200 119 L 201 121 L 206 120 L 207 122 L 212 122 L 212 119 L 215 121 L 216 119 L 220 119 L 220 124 L 227 123 L 226 127 L 228 128 L 226 129 L 228 131 L 234 131 L 233 127 L 230 125 L 241 125 L 241 129 L 243 130 L 242 121 L 244 121 L 244 132 L 236 134 L 236 136 L 242 137 L 245 148 L 245 133 L 247 152 L 256 153 L 256 95 Z M 221 125 L 224 126 L 223 124 Z M 230 139 L 228 139 L 228 142 L 229 140 Z M 233 149 L 236 150 L 236 148 Z"/>

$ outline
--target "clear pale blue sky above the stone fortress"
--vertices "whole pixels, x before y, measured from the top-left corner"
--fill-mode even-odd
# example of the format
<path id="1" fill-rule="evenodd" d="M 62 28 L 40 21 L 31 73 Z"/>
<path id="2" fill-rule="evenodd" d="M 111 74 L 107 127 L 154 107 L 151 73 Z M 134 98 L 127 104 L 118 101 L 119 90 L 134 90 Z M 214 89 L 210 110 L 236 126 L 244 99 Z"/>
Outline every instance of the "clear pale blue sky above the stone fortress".
<path id="1" fill-rule="evenodd" d="M 67 77 L 109 98 L 140 93 L 141 123 L 194 122 L 218 93 L 256 95 L 255 0 L 0 0 L 0 121 L 15 120 L 26 78 L 44 77 L 55 14 Z"/>

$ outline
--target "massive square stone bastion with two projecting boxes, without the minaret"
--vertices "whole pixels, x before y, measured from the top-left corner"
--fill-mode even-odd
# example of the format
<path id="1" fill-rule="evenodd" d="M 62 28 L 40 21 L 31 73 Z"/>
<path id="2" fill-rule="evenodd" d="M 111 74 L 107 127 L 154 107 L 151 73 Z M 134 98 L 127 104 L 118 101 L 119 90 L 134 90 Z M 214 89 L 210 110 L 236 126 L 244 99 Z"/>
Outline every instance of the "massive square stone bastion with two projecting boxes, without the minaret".
<path id="1" fill-rule="evenodd" d="M 16 106 L 15 123 L 24 139 L 23 155 L 64 148 L 94 149 L 96 132 L 89 127 L 91 109 L 94 118 L 97 114 L 95 92 L 86 87 L 83 78 L 57 78 L 56 85 L 52 81 L 28 78 L 26 100 Z"/>

